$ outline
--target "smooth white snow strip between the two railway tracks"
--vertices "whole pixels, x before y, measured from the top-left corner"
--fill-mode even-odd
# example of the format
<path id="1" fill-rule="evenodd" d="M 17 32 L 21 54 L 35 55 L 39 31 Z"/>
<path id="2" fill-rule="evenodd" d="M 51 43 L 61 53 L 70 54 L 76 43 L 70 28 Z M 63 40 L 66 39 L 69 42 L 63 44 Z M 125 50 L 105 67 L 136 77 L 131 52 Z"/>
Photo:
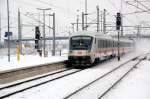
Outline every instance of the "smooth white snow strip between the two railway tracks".
<path id="1" fill-rule="evenodd" d="M 8 99 L 63 99 L 66 95 L 70 94 L 76 89 L 95 80 L 99 76 L 117 67 L 122 62 L 125 62 L 139 54 L 141 53 L 128 54 L 122 57 L 120 62 L 118 62 L 117 59 L 107 61 L 106 63 L 102 63 L 99 66 L 86 69 L 71 76 L 67 76 L 65 78 L 55 80 L 51 83 L 47 83 L 13 95 L 12 97 L 8 97 Z M 86 97 L 86 99 L 88 99 L 88 97 Z"/>

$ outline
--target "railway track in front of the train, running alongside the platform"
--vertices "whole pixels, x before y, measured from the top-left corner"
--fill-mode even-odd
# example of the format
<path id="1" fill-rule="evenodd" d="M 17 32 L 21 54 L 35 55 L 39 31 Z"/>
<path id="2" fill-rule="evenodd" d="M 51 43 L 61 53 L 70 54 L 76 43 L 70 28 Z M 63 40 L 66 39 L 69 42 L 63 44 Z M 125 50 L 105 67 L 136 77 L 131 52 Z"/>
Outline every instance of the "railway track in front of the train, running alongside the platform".
<path id="1" fill-rule="evenodd" d="M 83 70 L 83 69 L 82 69 Z M 39 76 L 33 79 L 29 79 L 26 81 L 22 81 L 19 83 L 6 85 L 4 87 L 0 87 L 0 99 L 7 98 L 14 94 L 23 92 L 25 90 L 52 82 L 54 80 L 58 80 L 60 78 L 75 74 L 77 72 L 82 71 L 81 69 L 65 69 L 55 73 Z"/>

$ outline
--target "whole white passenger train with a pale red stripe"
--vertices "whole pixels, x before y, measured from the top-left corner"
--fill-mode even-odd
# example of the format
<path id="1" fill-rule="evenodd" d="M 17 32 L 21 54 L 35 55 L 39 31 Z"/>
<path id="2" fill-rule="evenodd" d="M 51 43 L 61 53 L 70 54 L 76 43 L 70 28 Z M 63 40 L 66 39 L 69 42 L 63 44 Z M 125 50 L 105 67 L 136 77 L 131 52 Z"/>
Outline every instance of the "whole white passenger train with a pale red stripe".
<path id="1" fill-rule="evenodd" d="M 100 32 L 77 31 L 69 37 L 69 65 L 89 66 L 100 60 L 133 51 L 133 40 L 120 39 Z"/>

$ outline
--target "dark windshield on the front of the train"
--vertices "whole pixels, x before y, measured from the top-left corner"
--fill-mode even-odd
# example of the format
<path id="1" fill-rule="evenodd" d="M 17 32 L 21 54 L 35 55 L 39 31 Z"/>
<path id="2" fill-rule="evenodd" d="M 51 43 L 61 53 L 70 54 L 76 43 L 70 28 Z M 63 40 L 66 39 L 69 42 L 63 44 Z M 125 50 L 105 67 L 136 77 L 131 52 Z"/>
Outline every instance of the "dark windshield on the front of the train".
<path id="1" fill-rule="evenodd" d="M 90 50 L 92 40 L 90 36 L 74 36 L 70 39 L 70 50 Z"/>

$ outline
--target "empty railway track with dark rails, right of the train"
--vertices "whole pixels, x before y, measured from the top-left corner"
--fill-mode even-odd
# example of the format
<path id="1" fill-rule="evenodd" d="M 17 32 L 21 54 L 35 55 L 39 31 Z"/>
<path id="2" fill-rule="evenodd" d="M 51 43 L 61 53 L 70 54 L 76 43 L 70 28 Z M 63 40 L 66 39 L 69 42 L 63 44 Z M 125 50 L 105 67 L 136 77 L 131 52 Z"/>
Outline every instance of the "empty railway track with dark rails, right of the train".
<path id="1" fill-rule="evenodd" d="M 75 90 L 74 92 L 68 94 L 67 96 L 64 97 L 64 99 L 69 99 L 69 98 L 71 98 L 71 99 L 76 99 L 76 98 L 77 98 L 76 96 L 79 96 L 80 98 L 81 98 L 82 96 L 84 97 L 85 94 L 82 94 L 82 93 L 84 93 L 84 90 L 85 90 L 86 88 L 87 88 L 87 90 L 90 89 L 89 86 L 92 86 L 94 83 L 96 83 L 96 82 L 98 82 L 98 81 L 100 82 L 102 79 L 104 80 L 107 76 L 112 75 L 114 72 L 118 71 L 118 70 L 121 69 L 121 68 L 124 68 L 124 66 L 126 66 L 126 65 L 129 64 L 130 62 L 136 61 L 136 62 L 134 63 L 134 65 L 132 65 L 131 67 L 128 67 L 128 69 L 126 70 L 126 72 L 125 72 L 119 79 L 117 79 L 116 81 L 114 81 L 114 82 L 111 84 L 111 86 L 109 86 L 109 88 L 104 89 L 104 91 L 99 94 L 98 99 L 101 99 L 101 98 L 102 98 L 103 96 L 105 96 L 115 85 L 117 85 L 129 72 L 131 72 L 142 60 L 144 60 L 144 59 L 146 58 L 146 56 L 147 56 L 147 54 L 144 55 L 144 56 L 143 56 L 143 55 L 142 55 L 142 56 L 137 56 L 137 57 L 135 57 L 135 58 L 133 58 L 133 59 L 131 59 L 131 60 L 128 60 L 127 62 L 121 64 L 120 66 L 114 68 L 113 70 L 111 70 L 111 71 L 105 73 L 104 75 L 101 75 L 101 76 L 98 77 L 97 79 L 95 79 L 95 80 L 89 82 L 88 84 L 86 84 L 86 85 L 80 87 L 79 89 Z M 138 61 L 137 61 L 137 60 L 138 60 Z M 105 82 L 108 82 L 108 79 L 107 79 Z M 89 88 L 88 88 L 88 87 L 89 87 Z M 103 87 L 103 85 L 102 85 L 101 87 Z M 93 89 L 93 90 L 94 90 L 94 89 Z M 81 91 L 83 91 L 83 92 L 81 92 Z M 86 92 L 86 91 L 85 91 L 85 92 Z M 91 92 L 92 92 L 92 90 L 91 90 Z M 87 95 L 88 93 L 90 93 L 90 92 L 87 92 L 86 95 Z M 77 95 L 77 94 L 78 94 L 78 95 Z"/>

